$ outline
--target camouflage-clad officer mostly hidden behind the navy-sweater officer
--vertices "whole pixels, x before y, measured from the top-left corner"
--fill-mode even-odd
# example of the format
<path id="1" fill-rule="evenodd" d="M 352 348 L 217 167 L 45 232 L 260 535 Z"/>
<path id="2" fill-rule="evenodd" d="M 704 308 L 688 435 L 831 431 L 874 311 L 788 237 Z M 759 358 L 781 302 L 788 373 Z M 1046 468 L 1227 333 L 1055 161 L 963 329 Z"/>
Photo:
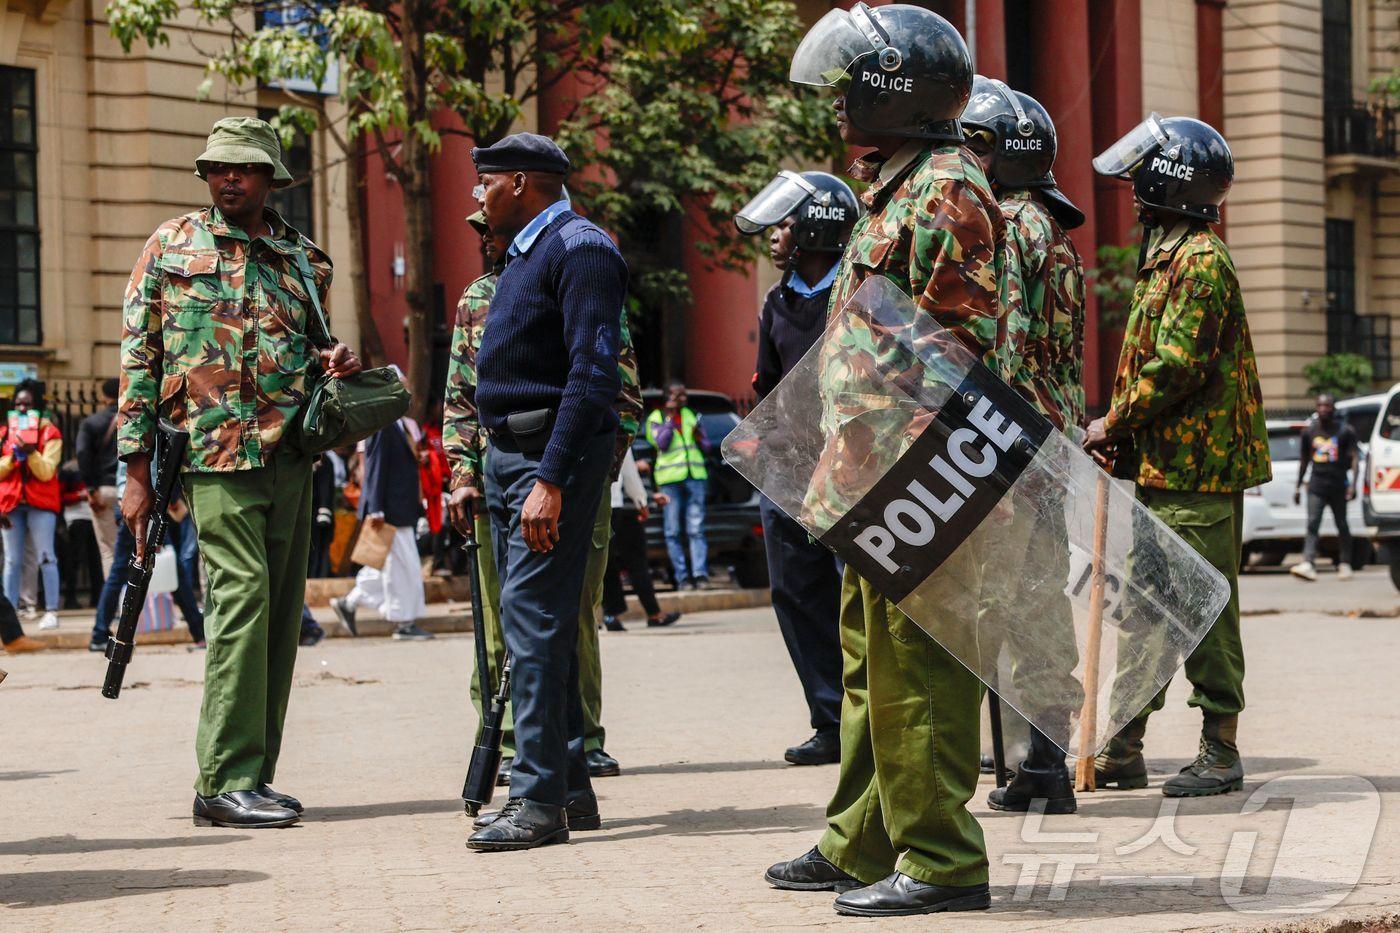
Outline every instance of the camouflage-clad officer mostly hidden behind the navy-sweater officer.
<path id="1" fill-rule="evenodd" d="M 466 523 L 472 520 L 468 503 L 475 503 L 475 525 L 477 541 L 491 541 L 490 517 L 482 504 L 482 454 L 484 440 L 480 423 L 476 417 L 473 396 L 476 392 L 476 354 L 482 346 L 482 335 L 486 332 L 486 315 L 496 294 L 496 283 L 505 268 L 505 255 L 510 241 L 493 234 L 486 226 L 486 216 L 479 210 L 466 219 L 480 235 L 482 245 L 490 269 L 470 282 L 462 291 L 462 298 L 456 305 L 456 322 L 452 329 L 452 349 L 448 359 L 447 391 L 442 406 L 442 448 L 447 452 L 448 464 L 452 468 L 451 500 L 448 506 L 454 524 L 462 534 L 466 534 Z M 622 352 L 619 356 L 617 378 L 622 381 L 622 391 L 613 408 L 617 412 L 617 452 L 620 458 L 627 452 L 633 436 L 637 433 L 637 416 L 641 413 L 641 384 L 637 378 L 637 354 L 633 349 L 631 333 L 627 329 L 626 314 L 622 314 Z M 616 472 L 619 464 L 613 466 Z M 588 552 L 588 569 L 584 574 L 584 590 L 578 607 L 578 656 L 580 656 L 580 689 L 584 700 L 585 720 L 585 752 L 588 756 L 588 773 L 594 778 L 608 778 L 617 775 L 620 766 L 617 761 L 603 749 L 606 733 L 602 726 L 602 660 L 598 651 L 598 623 L 595 612 L 602 600 L 602 576 L 608 566 L 608 538 L 610 534 L 612 502 L 608 496 L 599 500 L 598 521 L 603 523 L 602 531 L 594 527 L 594 538 Z M 500 628 L 501 581 L 496 572 L 496 560 L 490 546 L 479 552 L 480 583 L 483 611 L 486 612 L 486 642 L 491 658 L 491 670 L 500 671 L 505 658 L 505 642 Z M 332 608 L 340 612 L 337 601 L 332 601 Z M 476 712 L 482 713 L 482 698 L 490 696 L 491 685 L 477 684 L 476 668 L 472 668 L 472 702 Z M 515 755 L 515 730 L 511 724 L 511 707 L 505 705 L 505 721 L 503 724 L 504 737 L 501 741 L 501 769 L 497 785 L 510 786 L 511 763 Z M 484 824 L 482 824 L 484 825 Z"/>

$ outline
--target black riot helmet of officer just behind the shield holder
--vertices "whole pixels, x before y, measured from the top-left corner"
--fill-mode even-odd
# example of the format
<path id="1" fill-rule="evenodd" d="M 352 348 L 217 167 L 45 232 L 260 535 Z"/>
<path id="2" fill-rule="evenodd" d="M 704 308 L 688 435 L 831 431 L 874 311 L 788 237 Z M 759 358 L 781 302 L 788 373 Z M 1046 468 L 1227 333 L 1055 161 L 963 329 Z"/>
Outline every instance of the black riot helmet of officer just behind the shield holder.
<path id="1" fill-rule="evenodd" d="M 962 113 L 962 127 L 969 136 L 977 130 L 990 136 L 991 179 L 1002 188 L 1054 184 L 1050 178 L 1056 154 L 1054 122 L 1036 98 L 979 74 Z"/>

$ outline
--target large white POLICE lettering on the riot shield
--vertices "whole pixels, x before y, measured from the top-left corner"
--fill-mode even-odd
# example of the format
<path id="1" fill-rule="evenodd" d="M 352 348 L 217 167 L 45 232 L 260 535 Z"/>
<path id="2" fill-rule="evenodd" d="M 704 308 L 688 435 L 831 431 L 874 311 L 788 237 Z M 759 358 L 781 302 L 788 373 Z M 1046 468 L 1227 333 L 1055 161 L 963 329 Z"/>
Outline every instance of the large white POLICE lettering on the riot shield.
<path id="1" fill-rule="evenodd" d="M 893 558 L 896 548 L 923 548 L 934 539 L 938 523 L 956 518 L 976 490 L 976 481 L 997 469 L 998 451 L 1008 451 L 1021 437 L 1021 426 L 993 408 L 987 398 L 973 406 L 967 423 L 977 430 L 959 427 L 949 433 L 944 452 L 935 454 L 928 468 L 909 481 L 909 497 L 890 500 L 883 523 L 867 525 L 855 535 L 855 544 L 886 573 L 899 573 L 900 562 Z M 980 447 L 979 440 L 983 441 Z"/>

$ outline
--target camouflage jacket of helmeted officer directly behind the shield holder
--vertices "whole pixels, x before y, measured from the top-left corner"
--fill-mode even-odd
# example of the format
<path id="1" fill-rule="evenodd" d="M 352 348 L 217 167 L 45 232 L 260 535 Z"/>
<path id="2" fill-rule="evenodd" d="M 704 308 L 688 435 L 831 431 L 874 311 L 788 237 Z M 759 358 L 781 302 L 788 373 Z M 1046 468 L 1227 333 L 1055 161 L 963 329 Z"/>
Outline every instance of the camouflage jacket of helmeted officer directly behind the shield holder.
<path id="1" fill-rule="evenodd" d="M 1001 202 L 1007 219 L 1008 382 L 1054 426 L 1084 420 L 1084 265 L 1070 235 L 1029 191 Z"/>

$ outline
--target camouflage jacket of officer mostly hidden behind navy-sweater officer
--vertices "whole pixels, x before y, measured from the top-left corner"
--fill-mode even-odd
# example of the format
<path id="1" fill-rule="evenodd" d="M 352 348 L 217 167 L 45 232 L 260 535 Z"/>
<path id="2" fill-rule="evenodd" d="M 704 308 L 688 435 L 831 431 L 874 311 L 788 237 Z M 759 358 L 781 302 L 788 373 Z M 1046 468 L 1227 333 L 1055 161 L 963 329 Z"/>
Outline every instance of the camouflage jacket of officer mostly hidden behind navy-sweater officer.
<path id="1" fill-rule="evenodd" d="M 448 357 L 447 392 L 442 402 L 442 448 L 452 466 L 452 489 L 482 488 L 482 454 L 486 443 L 476 419 L 476 353 L 486 332 L 486 312 L 496 296 L 500 272 L 489 272 L 462 291 L 456 303 L 456 322 L 452 326 L 452 350 Z M 617 375 L 622 392 L 613 410 L 617 412 L 617 451 L 613 479 L 622 469 L 631 438 L 637 436 L 641 417 L 641 381 L 637 375 L 637 350 L 631 345 L 627 312 L 622 315 L 622 347 L 617 353 Z"/>

